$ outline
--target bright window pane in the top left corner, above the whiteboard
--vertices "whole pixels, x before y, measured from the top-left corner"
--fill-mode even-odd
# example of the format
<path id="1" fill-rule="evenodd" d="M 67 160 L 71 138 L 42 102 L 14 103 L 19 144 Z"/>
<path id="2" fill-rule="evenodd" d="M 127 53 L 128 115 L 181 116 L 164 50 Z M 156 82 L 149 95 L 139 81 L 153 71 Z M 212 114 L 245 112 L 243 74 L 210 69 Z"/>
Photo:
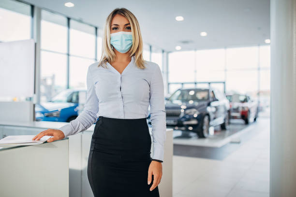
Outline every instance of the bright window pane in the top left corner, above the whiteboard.
<path id="1" fill-rule="evenodd" d="M 0 0 L 0 42 L 31 37 L 30 5 L 15 0 Z"/>

